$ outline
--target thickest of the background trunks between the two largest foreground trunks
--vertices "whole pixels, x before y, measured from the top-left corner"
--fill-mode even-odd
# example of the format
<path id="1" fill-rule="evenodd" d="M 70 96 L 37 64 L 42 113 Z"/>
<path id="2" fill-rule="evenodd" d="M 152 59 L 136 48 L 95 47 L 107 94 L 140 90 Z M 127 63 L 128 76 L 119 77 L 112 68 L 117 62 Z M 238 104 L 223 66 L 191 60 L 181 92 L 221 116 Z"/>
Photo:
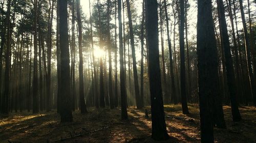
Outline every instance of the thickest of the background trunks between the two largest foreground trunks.
<path id="1" fill-rule="evenodd" d="M 186 77 L 185 77 L 185 43 L 184 43 L 184 0 L 180 0 L 180 90 L 182 113 L 188 114 L 186 98 Z"/>

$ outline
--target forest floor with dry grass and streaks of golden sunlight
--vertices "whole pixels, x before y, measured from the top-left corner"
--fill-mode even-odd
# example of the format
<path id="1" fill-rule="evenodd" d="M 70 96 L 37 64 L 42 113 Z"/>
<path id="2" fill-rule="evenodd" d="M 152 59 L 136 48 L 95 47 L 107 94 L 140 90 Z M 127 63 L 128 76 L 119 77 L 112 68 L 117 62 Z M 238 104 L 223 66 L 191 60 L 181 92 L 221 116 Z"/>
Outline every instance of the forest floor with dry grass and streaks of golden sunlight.
<path id="1" fill-rule="evenodd" d="M 161 142 L 200 142 L 199 109 L 189 104 L 189 115 L 182 115 L 181 105 L 165 105 L 170 139 Z M 151 139 L 151 116 L 145 109 L 127 109 L 129 120 L 122 121 L 121 110 L 89 108 L 81 115 L 73 112 L 74 122 L 60 123 L 56 111 L 10 113 L 0 117 L 0 142 L 158 142 Z M 231 108 L 224 106 L 227 129 L 215 128 L 215 142 L 256 142 L 256 108 L 240 108 L 242 122 L 232 122 Z M 89 133 L 90 130 L 90 133 Z"/>

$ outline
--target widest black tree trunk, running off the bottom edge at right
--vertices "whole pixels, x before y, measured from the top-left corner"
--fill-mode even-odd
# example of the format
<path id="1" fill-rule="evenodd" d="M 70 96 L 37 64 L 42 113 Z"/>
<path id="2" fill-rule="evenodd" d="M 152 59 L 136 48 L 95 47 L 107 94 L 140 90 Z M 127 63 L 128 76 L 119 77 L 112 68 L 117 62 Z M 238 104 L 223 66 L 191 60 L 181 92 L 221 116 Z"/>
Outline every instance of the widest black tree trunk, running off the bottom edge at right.
<path id="1" fill-rule="evenodd" d="M 212 103 L 214 96 L 218 94 L 216 89 L 219 75 L 210 0 L 198 1 L 197 55 L 201 142 L 213 143 Z"/>

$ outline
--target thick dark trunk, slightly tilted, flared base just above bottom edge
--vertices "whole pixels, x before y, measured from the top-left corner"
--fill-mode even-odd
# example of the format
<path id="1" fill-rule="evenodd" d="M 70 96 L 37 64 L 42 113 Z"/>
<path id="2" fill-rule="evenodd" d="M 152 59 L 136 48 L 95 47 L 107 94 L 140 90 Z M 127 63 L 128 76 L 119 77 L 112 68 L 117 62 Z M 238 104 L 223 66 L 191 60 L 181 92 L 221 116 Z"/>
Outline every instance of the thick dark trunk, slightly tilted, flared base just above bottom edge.
<path id="1" fill-rule="evenodd" d="M 166 130 L 161 87 L 157 1 L 147 1 L 146 7 L 149 10 L 147 11 L 147 38 L 150 69 L 152 138 L 155 140 L 166 140 L 169 138 L 169 135 Z"/>

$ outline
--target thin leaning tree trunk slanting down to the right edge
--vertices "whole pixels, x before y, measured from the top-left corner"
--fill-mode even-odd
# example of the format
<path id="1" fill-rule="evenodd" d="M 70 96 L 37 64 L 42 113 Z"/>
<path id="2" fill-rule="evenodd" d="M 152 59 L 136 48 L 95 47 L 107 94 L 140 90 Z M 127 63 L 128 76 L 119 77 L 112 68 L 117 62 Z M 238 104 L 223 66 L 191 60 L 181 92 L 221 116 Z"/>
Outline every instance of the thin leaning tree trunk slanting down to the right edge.
<path id="1" fill-rule="evenodd" d="M 251 53 L 250 53 L 250 45 L 249 45 L 249 38 L 248 38 L 248 32 L 247 32 L 247 25 L 245 21 L 245 15 L 244 15 L 244 7 L 243 7 L 243 1 L 239 0 L 240 10 L 241 10 L 241 17 L 242 17 L 242 23 L 244 28 L 244 37 L 245 37 L 245 51 L 246 51 L 246 66 L 247 66 L 247 72 L 249 73 L 249 81 L 250 81 L 250 90 L 253 97 L 253 104 L 256 106 L 256 88 L 252 73 L 252 65 L 251 65 Z"/>

